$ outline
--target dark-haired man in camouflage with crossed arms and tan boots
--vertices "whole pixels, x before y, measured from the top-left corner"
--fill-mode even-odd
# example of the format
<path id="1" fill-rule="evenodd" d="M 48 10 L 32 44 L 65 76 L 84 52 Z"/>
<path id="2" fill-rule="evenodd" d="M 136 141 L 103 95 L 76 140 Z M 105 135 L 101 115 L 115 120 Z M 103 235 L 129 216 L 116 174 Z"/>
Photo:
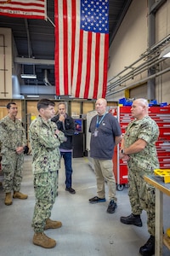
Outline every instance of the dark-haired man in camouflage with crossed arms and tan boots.
<path id="1" fill-rule="evenodd" d="M 32 172 L 36 205 L 32 219 L 33 243 L 50 248 L 56 245 L 54 239 L 43 232 L 61 227 L 60 221 L 50 219 L 57 196 L 58 170 L 60 164 L 59 145 L 65 135 L 57 129 L 51 118 L 54 117 L 54 102 L 42 99 L 37 103 L 39 116 L 30 125 L 29 134 L 32 150 Z"/>

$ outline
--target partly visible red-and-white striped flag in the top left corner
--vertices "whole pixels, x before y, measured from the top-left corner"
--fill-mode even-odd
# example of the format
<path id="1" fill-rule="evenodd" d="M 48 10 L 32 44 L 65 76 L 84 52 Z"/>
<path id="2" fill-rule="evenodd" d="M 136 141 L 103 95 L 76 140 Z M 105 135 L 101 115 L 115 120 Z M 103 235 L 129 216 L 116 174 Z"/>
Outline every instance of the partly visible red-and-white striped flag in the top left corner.
<path id="1" fill-rule="evenodd" d="M 0 1 L 0 15 L 27 18 L 47 19 L 46 0 L 8 0 Z"/>

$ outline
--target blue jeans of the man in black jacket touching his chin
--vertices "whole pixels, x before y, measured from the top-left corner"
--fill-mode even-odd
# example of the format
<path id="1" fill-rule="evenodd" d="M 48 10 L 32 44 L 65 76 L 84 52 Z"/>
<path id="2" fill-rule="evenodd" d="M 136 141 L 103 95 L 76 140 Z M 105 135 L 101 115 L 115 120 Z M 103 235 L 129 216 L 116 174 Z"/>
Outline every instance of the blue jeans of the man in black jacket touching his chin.
<path id="1" fill-rule="evenodd" d="M 71 188 L 71 176 L 72 176 L 72 153 L 71 152 L 60 152 L 61 157 L 63 157 L 65 161 L 65 185 L 66 188 Z"/>

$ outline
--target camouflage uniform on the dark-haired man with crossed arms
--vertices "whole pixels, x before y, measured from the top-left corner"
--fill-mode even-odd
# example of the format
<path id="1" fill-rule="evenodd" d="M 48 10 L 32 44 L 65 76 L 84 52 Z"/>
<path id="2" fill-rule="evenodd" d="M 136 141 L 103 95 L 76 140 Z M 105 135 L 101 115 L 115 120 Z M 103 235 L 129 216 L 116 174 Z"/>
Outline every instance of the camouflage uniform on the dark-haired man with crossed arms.
<path id="1" fill-rule="evenodd" d="M 36 196 L 32 227 L 35 233 L 43 232 L 57 196 L 59 145 L 64 142 L 65 136 L 61 131 L 59 136 L 54 135 L 55 129 L 54 122 L 45 121 L 41 116 L 33 120 L 30 125 L 32 172 Z"/>

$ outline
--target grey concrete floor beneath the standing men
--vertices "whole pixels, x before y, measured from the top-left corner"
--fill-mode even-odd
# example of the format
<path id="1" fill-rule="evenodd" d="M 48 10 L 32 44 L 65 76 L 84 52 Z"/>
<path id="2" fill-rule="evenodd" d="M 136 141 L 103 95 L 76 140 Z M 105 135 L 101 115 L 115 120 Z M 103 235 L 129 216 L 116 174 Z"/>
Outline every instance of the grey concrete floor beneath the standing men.
<path id="1" fill-rule="evenodd" d="M 14 199 L 13 205 L 5 206 L 4 193 L 0 187 L 0 255 L 1 256 L 138 256 L 139 247 L 149 238 L 146 214 L 142 213 L 143 227 L 120 223 L 121 216 L 131 213 L 127 188 L 117 191 L 116 212 L 109 214 L 107 186 L 106 200 L 89 204 L 88 199 L 96 195 L 94 171 L 87 158 L 73 159 L 73 184 L 77 194 L 65 191 L 63 160 L 59 170 L 59 196 L 52 211 L 52 219 L 60 220 L 59 230 L 46 230 L 47 236 L 57 241 L 57 246 L 44 249 L 32 244 L 31 218 L 35 204 L 32 186 L 31 155 L 25 157 L 24 177 L 21 191 L 28 194 L 26 201 Z M 3 179 L 1 176 L 0 179 Z M 164 195 L 164 229 L 170 227 L 169 197 Z M 163 247 L 163 256 L 170 252 Z"/>

